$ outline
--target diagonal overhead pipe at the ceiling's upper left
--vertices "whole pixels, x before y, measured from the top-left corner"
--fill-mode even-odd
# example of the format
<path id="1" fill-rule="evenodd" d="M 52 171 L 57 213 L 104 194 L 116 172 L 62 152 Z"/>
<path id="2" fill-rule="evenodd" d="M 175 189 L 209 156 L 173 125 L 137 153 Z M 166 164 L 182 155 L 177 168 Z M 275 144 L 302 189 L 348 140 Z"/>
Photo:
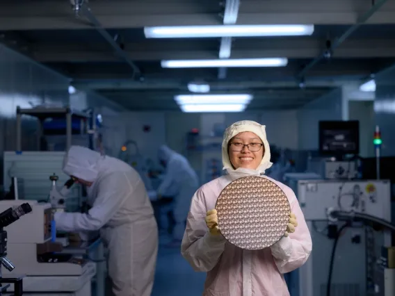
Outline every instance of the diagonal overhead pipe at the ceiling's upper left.
<path id="1" fill-rule="evenodd" d="M 131 69 L 133 69 L 132 79 L 136 77 L 136 74 L 140 74 L 140 69 L 133 63 L 133 61 L 127 56 L 127 54 L 120 48 L 117 42 L 113 39 L 113 37 L 106 31 L 106 29 L 100 24 L 100 22 L 96 19 L 95 15 L 90 11 L 90 8 L 86 6 L 84 1 L 82 0 L 71 0 L 74 11 L 77 14 L 81 14 L 85 16 L 88 21 L 95 26 L 97 32 L 113 47 L 115 53 L 118 54 L 120 58 L 122 58 L 125 63 L 127 63 Z"/>

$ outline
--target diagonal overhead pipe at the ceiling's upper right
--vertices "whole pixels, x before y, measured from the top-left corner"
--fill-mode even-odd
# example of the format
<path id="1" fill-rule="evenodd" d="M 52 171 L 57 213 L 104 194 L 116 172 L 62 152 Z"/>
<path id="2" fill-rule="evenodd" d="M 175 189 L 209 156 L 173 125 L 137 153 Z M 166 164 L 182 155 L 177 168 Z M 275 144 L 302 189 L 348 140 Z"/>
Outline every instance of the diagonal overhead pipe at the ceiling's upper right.
<path id="1" fill-rule="evenodd" d="M 325 58 L 325 54 L 327 54 L 328 51 L 333 52 L 334 49 L 337 49 L 337 47 L 339 47 L 344 41 L 346 41 L 346 39 L 348 37 L 350 37 L 350 35 L 352 33 L 354 33 L 357 30 L 357 28 L 360 28 L 360 26 L 362 26 L 362 24 L 364 24 L 368 19 L 370 19 L 371 16 L 374 15 L 377 12 L 377 10 L 379 10 L 381 8 L 381 6 L 383 6 L 385 4 L 385 2 L 387 2 L 387 0 L 378 0 L 376 3 L 374 3 L 373 6 L 371 7 L 371 9 L 369 9 L 361 17 L 358 17 L 356 24 L 353 24 L 353 26 L 350 26 L 350 28 L 348 28 L 339 38 L 337 38 L 337 40 L 335 40 L 330 45 L 330 48 L 325 49 L 325 51 L 323 51 L 322 54 L 320 54 L 319 56 L 314 58 L 314 60 L 312 60 L 309 64 L 307 64 L 302 69 L 302 71 L 300 71 L 296 75 L 296 78 L 297 79 L 303 78 L 305 76 L 305 74 L 307 73 L 307 71 L 309 71 L 309 69 L 312 69 L 312 67 L 314 67 L 317 63 L 321 62 L 321 60 L 323 60 L 323 58 Z"/>

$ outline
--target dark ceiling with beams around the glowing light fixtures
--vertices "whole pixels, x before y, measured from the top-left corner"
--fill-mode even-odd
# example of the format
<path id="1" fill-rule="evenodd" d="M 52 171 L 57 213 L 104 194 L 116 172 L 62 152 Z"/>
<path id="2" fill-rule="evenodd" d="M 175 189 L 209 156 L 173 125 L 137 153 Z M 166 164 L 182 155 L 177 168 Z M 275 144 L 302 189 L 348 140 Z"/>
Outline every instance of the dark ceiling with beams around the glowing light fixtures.
<path id="1" fill-rule="evenodd" d="M 216 59 L 221 40 L 146 39 L 143 27 L 223 24 L 224 6 L 215 0 L 90 0 L 83 4 L 88 18 L 76 17 L 70 0 L 1 1 L 0 39 L 70 77 L 76 88 L 131 110 L 179 110 L 173 97 L 187 94 L 191 81 L 206 81 L 213 93 L 253 94 L 247 110 L 293 109 L 395 63 L 395 1 L 376 0 L 378 9 L 373 2 L 241 1 L 236 24 L 315 25 L 311 36 L 233 38 L 230 58 L 285 57 L 286 67 L 163 69 L 161 60 Z M 318 59 L 328 41 L 333 47 L 357 22 L 362 26 L 330 58 Z M 115 40 L 118 54 L 97 28 Z"/>

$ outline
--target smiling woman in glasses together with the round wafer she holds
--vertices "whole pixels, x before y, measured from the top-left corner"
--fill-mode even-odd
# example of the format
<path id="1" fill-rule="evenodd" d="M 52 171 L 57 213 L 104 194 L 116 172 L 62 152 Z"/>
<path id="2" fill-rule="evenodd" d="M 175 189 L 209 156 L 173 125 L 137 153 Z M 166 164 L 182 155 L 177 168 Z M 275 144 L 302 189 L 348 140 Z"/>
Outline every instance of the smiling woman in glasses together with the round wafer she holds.
<path id="1" fill-rule="evenodd" d="M 265 126 L 232 124 L 222 154 L 227 174 L 193 196 L 182 255 L 207 272 L 203 296 L 289 296 L 284 273 L 307 261 L 312 238 L 291 188 L 264 175 Z"/>

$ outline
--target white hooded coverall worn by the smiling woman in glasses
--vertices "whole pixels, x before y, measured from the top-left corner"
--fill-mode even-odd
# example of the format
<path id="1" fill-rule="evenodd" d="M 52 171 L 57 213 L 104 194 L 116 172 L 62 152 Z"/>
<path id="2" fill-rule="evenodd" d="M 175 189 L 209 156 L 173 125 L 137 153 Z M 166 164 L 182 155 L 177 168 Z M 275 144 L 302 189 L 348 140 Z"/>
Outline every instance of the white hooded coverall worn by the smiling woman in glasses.
<path id="1" fill-rule="evenodd" d="M 228 142 L 243 131 L 255 133 L 264 143 L 265 154 L 257 170 L 234 170 L 229 161 Z M 194 270 L 207 272 L 203 296 L 289 296 L 283 274 L 307 261 L 312 251 L 312 239 L 291 188 L 262 174 L 271 167 L 265 126 L 250 121 L 229 126 L 223 140 L 223 164 L 228 174 L 204 184 L 193 196 L 182 240 L 182 256 Z M 266 249 L 243 250 L 235 247 L 223 236 L 209 233 L 204 220 L 207 211 L 215 208 L 223 188 L 243 176 L 261 176 L 275 182 L 287 195 L 291 212 L 298 220 L 294 233 L 282 237 Z"/>

